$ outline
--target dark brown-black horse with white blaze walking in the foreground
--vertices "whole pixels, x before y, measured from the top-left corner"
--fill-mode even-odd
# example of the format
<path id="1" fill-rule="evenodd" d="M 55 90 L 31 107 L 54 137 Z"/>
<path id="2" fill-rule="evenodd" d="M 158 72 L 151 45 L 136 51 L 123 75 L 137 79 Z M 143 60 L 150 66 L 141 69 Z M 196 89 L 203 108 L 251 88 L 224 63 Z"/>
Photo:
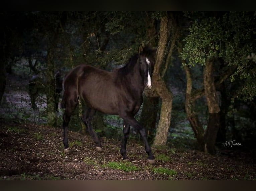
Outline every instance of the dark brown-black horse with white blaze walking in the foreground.
<path id="1" fill-rule="evenodd" d="M 61 101 L 61 107 L 66 108 L 63 114 L 63 144 L 66 153 L 70 151 L 68 124 L 78 104 L 78 99 L 81 97 L 89 107 L 83 114 L 82 121 L 95 141 L 98 152 L 102 152 L 102 145 L 91 124 L 96 110 L 119 115 L 124 120 L 124 136 L 120 150 L 123 160 L 129 160 L 126 154 L 126 143 L 132 125 L 143 138 L 149 163 L 156 163 L 147 141 L 145 128 L 134 118 L 143 102 L 144 88 L 151 89 L 155 51 L 149 47 L 140 46 L 139 54 L 133 56 L 126 66 L 113 72 L 88 65 L 79 65 L 66 75 L 63 81 L 64 94 Z"/>

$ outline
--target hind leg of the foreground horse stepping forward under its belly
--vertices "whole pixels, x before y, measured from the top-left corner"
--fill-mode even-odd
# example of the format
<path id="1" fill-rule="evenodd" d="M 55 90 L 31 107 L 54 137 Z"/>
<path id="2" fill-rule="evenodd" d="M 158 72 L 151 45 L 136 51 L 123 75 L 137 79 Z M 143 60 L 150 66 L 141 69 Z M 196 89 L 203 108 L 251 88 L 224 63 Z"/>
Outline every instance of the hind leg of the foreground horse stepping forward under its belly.
<path id="1" fill-rule="evenodd" d="M 93 127 L 91 124 L 91 121 L 92 121 L 92 118 L 93 118 L 93 115 L 95 114 L 95 112 L 96 112 L 95 109 L 88 108 L 82 116 L 82 121 L 87 126 L 89 134 L 91 135 L 92 139 L 96 143 L 96 150 L 98 152 L 102 152 L 102 145 L 101 145 L 100 139 L 97 136 L 96 132 L 93 130 Z"/>

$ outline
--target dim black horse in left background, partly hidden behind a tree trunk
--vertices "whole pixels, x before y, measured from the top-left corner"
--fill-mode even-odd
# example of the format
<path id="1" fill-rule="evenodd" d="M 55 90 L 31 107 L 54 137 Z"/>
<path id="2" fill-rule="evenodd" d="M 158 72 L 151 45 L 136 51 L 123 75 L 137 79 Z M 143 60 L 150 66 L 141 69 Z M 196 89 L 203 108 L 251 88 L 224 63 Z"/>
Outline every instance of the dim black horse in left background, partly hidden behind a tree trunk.
<path id="1" fill-rule="evenodd" d="M 55 102 L 56 111 L 58 111 L 59 97 L 62 91 L 62 81 L 63 79 L 61 77 L 60 72 L 56 72 L 53 83 L 52 83 L 55 85 L 54 102 Z M 36 74 L 32 76 L 32 78 L 29 80 L 28 91 L 29 91 L 31 106 L 33 109 L 36 109 L 35 101 L 38 95 L 46 92 L 46 86 L 47 86 L 46 79 L 43 73 Z"/>

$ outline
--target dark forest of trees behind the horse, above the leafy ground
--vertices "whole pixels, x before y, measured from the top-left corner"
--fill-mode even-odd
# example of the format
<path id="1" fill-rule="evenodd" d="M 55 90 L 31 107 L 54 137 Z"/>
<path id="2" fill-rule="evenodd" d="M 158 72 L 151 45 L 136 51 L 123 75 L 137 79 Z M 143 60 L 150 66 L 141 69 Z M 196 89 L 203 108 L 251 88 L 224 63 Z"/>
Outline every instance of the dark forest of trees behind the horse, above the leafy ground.
<path id="1" fill-rule="evenodd" d="M 63 78 L 82 63 L 111 71 L 150 45 L 157 48 L 153 89 L 136 118 L 151 144 L 255 158 L 255 11 L 2 11 L 0 20 L 2 119 L 61 128 L 57 72 Z M 36 109 L 28 94 L 34 75 Z M 69 128 L 84 133 L 82 108 Z M 93 123 L 101 136 L 120 138 L 119 117 L 97 113 Z M 225 144 L 232 140 L 239 144 Z"/>

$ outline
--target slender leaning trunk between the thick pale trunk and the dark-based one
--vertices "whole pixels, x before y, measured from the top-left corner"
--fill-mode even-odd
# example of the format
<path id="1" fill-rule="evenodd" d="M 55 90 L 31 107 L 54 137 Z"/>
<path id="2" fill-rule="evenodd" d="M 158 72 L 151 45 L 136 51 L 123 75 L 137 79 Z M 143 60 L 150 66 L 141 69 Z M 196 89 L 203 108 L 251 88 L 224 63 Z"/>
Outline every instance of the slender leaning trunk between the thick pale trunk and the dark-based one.
<path id="1" fill-rule="evenodd" d="M 204 148 L 204 128 L 198 118 L 197 113 L 194 111 L 195 99 L 191 96 L 192 91 L 192 78 L 188 66 L 184 66 L 186 73 L 187 87 L 186 87 L 186 101 L 185 101 L 185 110 L 189 123 L 195 133 L 199 149 L 203 150 Z"/>

